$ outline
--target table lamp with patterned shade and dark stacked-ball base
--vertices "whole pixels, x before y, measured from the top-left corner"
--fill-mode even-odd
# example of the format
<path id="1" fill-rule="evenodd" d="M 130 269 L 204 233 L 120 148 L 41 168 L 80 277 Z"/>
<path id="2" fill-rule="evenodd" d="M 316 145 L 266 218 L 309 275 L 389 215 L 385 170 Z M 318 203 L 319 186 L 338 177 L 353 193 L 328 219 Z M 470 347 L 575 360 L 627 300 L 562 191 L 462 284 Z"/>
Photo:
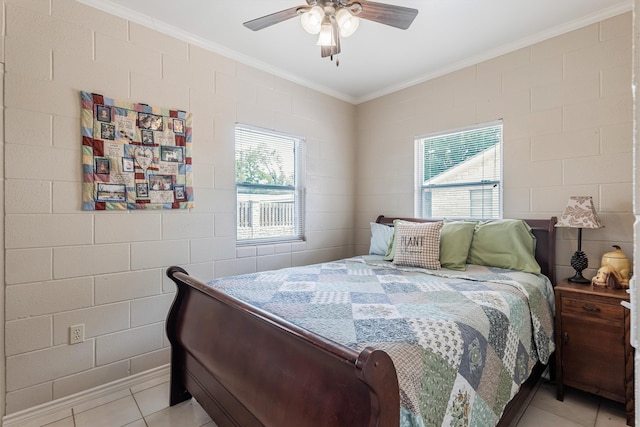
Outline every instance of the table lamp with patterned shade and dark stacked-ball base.
<path id="1" fill-rule="evenodd" d="M 567 207 L 562 212 L 556 227 L 568 227 L 578 229 L 578 250 L 571 257 L 571 267 L 576 271 L 573 277 L 569 278 L 574 283 L 591 283 L 590 280 L 582 276 L 582 270 L 589 266 L 589 260 L 582 252 L 582 229 L 583 228 L 603 228 L 600 218 L 593 207 L 591 196 L 571 196 Z"/>

